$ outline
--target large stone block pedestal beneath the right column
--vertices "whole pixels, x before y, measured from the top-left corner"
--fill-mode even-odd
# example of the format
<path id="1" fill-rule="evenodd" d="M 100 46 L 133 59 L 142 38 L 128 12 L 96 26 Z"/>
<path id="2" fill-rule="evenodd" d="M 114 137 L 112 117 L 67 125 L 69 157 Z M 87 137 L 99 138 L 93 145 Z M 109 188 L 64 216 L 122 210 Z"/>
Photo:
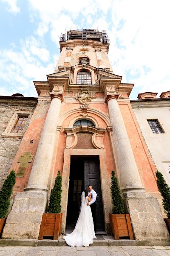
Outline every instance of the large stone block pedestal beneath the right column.
<path id="1" fill-rule="evenodd" d="M 125 196 L 125 206 L 136 240 L 170 238 L 157 198 L 147 193 L 127 193 Z"/>

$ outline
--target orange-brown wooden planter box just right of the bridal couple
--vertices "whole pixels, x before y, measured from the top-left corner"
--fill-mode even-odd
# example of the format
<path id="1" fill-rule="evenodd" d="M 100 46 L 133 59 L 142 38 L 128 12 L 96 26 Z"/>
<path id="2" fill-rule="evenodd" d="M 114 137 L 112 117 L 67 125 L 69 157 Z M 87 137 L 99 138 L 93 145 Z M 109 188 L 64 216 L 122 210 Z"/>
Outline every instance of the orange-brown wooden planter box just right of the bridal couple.
<path id="1" fill-rule="evenodd" d="M 132 225 L 129 214 L 112 214 L 109 213 L 111 232 L 115 240 L 121 237 L 129 237 L 134 240 Z"/>

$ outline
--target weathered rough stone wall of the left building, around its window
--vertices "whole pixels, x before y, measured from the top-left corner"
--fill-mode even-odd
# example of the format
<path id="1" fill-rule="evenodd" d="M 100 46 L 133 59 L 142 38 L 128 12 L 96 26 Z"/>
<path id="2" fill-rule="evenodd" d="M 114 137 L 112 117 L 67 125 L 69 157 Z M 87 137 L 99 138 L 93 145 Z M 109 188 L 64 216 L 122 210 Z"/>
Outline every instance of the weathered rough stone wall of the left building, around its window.
<path id="1" fill-rule="evenodd" d="M 33 113 L 36 104 L 37 98 L 0 96 L 0 189 L 8 175 L 23 137 L 23 135 L 20 137 L 3 136 L 2 133 L 6 130 L 16 111 Z"/>

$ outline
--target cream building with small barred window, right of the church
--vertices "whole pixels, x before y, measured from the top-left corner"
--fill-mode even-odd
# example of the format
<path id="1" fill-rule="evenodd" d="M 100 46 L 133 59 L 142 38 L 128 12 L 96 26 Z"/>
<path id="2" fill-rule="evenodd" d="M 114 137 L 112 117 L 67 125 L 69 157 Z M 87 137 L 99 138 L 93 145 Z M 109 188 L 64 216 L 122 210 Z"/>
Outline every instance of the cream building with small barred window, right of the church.
<path id="1" fill-rule="evenodd" d="M 156 95 L 140 93 L 130 104 L 156 168 L 170 186 L 170 91 Z M 163 209 L 162 213 L 166 218 Z"/>

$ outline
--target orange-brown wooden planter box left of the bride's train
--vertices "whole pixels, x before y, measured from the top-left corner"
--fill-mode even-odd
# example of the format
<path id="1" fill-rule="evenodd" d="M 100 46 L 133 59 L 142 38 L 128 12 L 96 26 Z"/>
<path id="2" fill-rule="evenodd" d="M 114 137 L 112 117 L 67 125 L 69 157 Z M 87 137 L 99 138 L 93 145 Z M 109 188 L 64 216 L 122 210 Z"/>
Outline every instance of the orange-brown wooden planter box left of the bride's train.
<path id="1" fill-rule="evenodd" d="M 62 213 L 43 213 L 38 239 L 53 237 L 58 240 L 61 235 Z"/>

